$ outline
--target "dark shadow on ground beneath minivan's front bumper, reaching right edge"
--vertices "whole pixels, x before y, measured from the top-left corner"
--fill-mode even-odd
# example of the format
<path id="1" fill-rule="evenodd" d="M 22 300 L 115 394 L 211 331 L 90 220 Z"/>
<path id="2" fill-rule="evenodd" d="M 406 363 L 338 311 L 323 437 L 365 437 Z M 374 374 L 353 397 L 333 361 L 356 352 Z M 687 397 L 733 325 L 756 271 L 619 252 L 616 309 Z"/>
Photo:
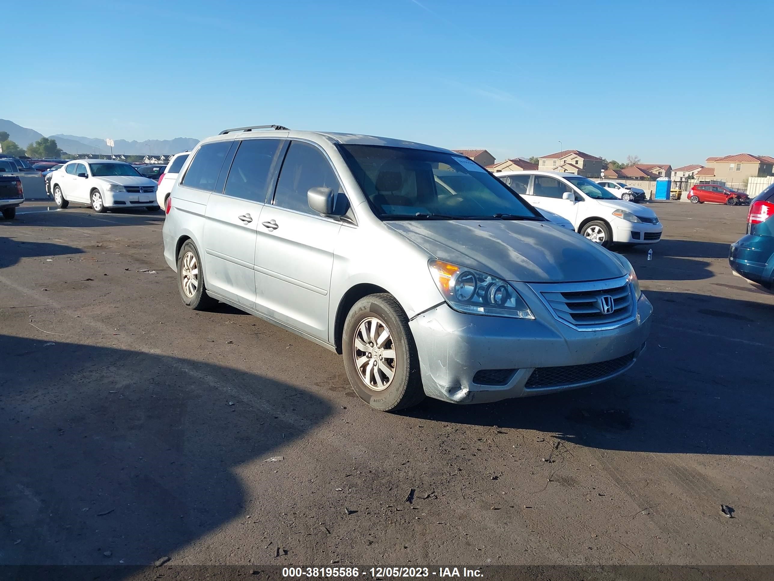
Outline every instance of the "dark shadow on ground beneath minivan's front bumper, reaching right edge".
<path id="1" fill-rule="evenodd" d="M 648 349 L 622 376 L 596 387 L 496 404 L 426 400 L 406 415 L 556 434 L 598 449 L 774 456 L 769 304 L 649 292 Z M 752 362 L 752 363 L 751 363 Z"/>

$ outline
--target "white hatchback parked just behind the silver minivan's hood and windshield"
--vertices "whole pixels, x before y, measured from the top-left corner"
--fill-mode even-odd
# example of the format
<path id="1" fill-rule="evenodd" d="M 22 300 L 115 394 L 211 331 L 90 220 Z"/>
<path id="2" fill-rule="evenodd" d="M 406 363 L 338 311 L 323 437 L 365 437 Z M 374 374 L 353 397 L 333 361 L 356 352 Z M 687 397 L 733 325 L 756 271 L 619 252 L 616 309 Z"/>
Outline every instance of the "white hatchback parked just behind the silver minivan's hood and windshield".
<path id="1" fill-rule="evenodd" d="M 566 218 L 575 231 L 602 246 L 654 244 L 663 227 L 656 212 L 622 201 L 587 177 L 555 171 L 503 171 L 494 174 L 539 210 Z"/>

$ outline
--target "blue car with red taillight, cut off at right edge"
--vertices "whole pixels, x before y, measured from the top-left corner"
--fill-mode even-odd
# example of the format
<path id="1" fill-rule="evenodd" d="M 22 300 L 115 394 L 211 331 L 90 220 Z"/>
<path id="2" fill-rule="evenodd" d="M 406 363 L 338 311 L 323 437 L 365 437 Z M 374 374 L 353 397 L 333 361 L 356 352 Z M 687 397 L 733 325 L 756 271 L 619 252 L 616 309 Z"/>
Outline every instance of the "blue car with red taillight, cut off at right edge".
<path id="1" fill-rule="evenodd" d="M 731 244 L 728 263 L 747 280 L 774 289 L 774 184 L 750 204 L 747 234 Z"/>

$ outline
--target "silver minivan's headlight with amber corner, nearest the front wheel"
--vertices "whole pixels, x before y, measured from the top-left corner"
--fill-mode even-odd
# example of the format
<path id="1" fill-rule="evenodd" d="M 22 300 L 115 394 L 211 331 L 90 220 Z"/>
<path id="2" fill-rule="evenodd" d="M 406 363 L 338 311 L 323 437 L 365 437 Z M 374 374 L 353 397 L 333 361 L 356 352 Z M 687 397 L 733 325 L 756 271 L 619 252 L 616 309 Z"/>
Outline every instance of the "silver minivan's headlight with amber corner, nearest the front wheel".
<path id="1" fill-rule="evenodd" d="M 430 274 L 455 311 L 473 315 L 535 318 L 526 303 L 510 284 L 478 270 L 430 260 Z"/>

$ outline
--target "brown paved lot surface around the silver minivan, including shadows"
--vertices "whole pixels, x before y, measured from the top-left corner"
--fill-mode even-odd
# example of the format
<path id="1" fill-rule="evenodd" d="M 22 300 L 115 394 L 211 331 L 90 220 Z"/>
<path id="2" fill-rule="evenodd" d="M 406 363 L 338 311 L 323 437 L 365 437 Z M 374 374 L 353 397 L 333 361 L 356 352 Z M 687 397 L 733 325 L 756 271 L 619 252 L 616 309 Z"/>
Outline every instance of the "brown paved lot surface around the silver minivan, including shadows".
<path id="1" fill-rule="evenodd" d="M 335 354 L 183 308 L 161 212 L 24 205 L 0 222 L 0 564 L 774 563 L 774 296 L 727 262 L 747 208 L 651 207 L 632 370 L 391 415 Z"/>

